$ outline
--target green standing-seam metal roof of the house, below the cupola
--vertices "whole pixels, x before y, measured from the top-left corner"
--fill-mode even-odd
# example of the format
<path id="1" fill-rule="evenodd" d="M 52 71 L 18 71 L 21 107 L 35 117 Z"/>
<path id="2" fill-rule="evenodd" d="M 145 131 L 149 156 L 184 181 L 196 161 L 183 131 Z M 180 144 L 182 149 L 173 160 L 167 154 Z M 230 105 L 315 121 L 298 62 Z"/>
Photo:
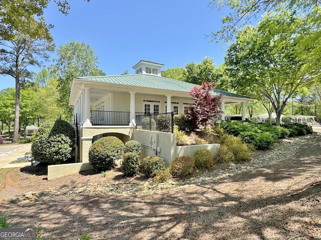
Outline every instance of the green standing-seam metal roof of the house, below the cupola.
<path id="1" fill-rule="evenodd" d="M 199 86 L 192 83 L 187 83 L 175 79 L 159 77 L 149 74 L 126 74 L 126 75 L 114 75 L 114 76 L 93 76 L 93 77 L 78 77 L 76 79 L 83 79 L 87 81 L 110 83 L 110 84 L 122 84 L 127 86 L 135 87 L 146 87 L 146 88 L 155 88 L 163 90 L 174 90 L 189 92 L 194 86 Z M 223 94 L 227 97 L 236 97 L 236 98 L 247 98 L 249 97 L 225 92 L 222 90 L 214 89 L 214 94 L 220 95 Z"/>

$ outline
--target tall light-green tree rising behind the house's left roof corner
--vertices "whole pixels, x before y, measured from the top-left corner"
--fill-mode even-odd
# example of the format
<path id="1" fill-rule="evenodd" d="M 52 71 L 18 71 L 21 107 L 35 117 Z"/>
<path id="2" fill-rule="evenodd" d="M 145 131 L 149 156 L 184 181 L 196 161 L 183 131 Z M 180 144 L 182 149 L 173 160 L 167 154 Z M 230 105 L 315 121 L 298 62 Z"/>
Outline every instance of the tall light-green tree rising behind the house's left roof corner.
<path id="1" fill-rule="evenodd" d="M 64 113 L 69 116 L 72 110 L 69 107 L 69 96 L 73 78 L 102 76 L 105 73 L 98 69 L 98 57 L 95 51 L 84 42 L 71 41 L 61 45 L 57 55 L 53 69 L 58 77 L 58 102 L 64 109 Z"/>

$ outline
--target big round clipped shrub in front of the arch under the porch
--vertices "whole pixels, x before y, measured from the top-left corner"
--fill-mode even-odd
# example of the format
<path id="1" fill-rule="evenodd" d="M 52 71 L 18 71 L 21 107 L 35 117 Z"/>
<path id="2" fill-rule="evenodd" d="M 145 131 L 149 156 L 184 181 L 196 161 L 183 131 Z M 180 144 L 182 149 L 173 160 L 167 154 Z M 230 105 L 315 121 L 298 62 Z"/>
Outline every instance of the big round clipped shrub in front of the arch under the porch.
<path id="1" fill-rule="evenodd" d="M 110 170 L 124 153 L 125 145 L 114 136 L 102 137 L 89 148 L 89 162 L 96 172 Z"/>

